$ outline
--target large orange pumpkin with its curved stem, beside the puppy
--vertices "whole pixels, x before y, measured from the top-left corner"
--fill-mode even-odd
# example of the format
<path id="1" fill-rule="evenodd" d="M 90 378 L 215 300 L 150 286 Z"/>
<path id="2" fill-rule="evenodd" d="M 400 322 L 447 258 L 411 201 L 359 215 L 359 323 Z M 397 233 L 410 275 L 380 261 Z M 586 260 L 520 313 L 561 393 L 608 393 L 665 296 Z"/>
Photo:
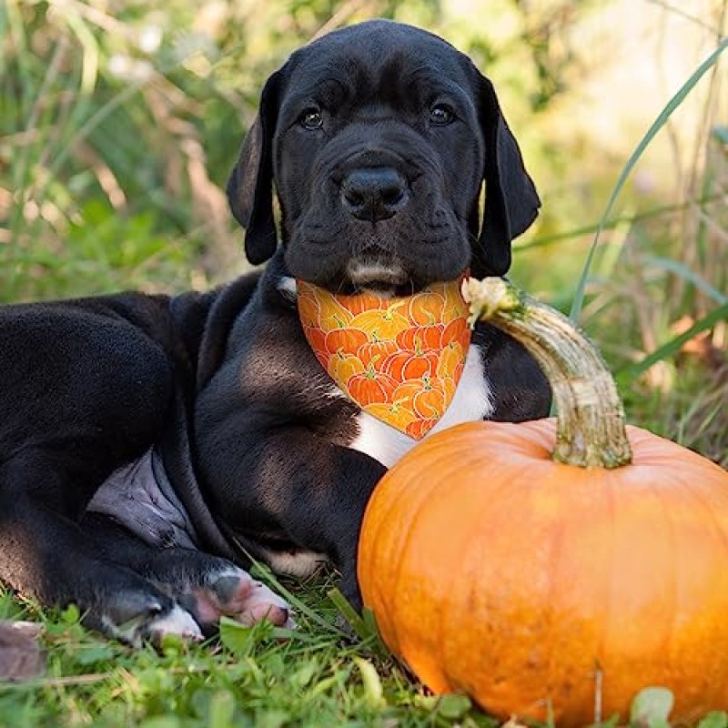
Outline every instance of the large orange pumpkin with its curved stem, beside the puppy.
<path id="1" fill-rule="evenodd" d="M 625 428 L 561 314 L 500 279 L 469 285 L 540 360 L 559 421 L 454 427 L 380 481 L 359 581 L 384 641 L 435 693 L 502 719 L 624 721 L 649 685 L 672 691 L 676 722 L 728 709 L 728 473 Z"/>

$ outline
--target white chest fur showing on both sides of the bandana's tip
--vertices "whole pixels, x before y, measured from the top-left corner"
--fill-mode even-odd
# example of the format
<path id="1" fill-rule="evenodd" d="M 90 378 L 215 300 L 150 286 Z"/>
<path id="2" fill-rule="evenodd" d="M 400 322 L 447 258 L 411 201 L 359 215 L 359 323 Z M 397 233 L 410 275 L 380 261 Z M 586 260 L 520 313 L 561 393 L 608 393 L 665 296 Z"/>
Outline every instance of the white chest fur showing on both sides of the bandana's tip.
<path id="1" fill-rule="evenodd" d="M 440 421 L 425 435 L 423 440 L 435 432 L 458 425 L 460 422 L 488 418 L 492 411 L 490 386 L 483 374 L 480 349 L 470 346 L 465 359 L 465 368 L 458 389 L 455 390 L 455 396 L 450 402 L 450 407 L 445 410 Z M 349 448 L 367 453 L 387 468 L 391 468 L 420 442 L 363 411 L 357 416 L 357 425 L 359 426 L 359 436 L 349 444 Z"/>

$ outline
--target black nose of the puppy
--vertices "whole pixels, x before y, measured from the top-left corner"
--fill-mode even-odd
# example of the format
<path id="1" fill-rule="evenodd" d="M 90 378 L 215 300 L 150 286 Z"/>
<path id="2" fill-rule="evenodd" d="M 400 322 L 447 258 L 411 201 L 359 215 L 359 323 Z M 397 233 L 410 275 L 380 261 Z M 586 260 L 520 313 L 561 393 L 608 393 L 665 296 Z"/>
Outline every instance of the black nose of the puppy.
<path id="1" fill-rule="evenodd" d="M 344 177 L 341 197 L 354 217 L 386 220 L 407 204 L 407 181 L 391 167 L 361 167 Z"/>

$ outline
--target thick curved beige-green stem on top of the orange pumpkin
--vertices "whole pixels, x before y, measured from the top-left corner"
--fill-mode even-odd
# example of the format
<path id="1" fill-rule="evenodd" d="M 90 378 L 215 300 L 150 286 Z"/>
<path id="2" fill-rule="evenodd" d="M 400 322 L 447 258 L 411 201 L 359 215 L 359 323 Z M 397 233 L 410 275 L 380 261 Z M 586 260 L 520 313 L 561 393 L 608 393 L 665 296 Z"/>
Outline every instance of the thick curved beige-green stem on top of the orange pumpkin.
<path id="1" fill-rule="evenodd" d="M 553 460 L 618 468 L 632 461 L 622 401 L 596 347 L 555 308 L 502 278 L 462 284 L 470 326 L 489 320 L 528 349 L 551 383 L 556 404 Z"/>

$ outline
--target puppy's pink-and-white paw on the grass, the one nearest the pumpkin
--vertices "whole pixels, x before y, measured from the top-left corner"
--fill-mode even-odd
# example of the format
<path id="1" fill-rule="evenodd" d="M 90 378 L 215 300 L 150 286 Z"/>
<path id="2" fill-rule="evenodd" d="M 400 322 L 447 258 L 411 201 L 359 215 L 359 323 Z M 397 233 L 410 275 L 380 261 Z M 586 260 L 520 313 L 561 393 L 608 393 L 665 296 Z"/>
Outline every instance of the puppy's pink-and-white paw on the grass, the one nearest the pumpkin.
<path id="1" fill-rule="evenodd" d="M 214 631 L 223 615 L 247 625 L 266 620 L 277 627 L 295 627 L 288 603 L 232 564 L 208 573 L 203 584 L 193 586 L 179 601 L 204 632 Z"/>

